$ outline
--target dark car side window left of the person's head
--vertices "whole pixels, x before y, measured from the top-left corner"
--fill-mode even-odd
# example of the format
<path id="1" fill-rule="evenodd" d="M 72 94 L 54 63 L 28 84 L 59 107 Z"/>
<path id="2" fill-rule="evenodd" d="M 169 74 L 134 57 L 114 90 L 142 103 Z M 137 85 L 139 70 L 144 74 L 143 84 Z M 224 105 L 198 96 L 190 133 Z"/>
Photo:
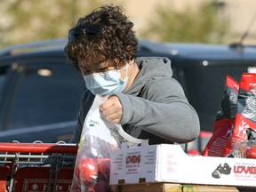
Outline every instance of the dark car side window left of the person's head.
<path id="1" fill-rule="evenodd" d="M 66 63 L 33 63 L 20 71 L 7 129 L 76 119 L 84 83 Z"/>

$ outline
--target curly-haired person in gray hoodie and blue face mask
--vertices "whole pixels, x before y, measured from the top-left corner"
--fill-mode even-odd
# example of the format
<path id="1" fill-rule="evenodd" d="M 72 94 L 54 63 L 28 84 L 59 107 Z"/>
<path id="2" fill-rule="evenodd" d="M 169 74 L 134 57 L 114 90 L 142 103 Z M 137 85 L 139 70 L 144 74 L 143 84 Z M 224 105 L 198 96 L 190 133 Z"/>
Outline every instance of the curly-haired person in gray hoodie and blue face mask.
<path id="1" fill-rule="evenodd" d="M 78 142 L 96 94 L 106 97 L 100 111 L 149 144 L 187 143 L 199 135 L 196 110 L 172 78 L 167 58 L 135 58 L 138 40 L 133 23 L 120 6 L 104 5 L 69 30 L 68 58 L 84 76 L 77 125 L 70 142 Z"/>

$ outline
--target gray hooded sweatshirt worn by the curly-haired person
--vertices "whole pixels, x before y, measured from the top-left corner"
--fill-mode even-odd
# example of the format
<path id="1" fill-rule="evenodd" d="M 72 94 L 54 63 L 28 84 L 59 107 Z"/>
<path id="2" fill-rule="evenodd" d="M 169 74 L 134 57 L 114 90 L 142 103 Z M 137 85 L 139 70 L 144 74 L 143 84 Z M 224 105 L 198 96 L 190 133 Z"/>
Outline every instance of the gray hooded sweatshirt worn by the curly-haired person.
<path id="1" fill-rule="evenodd" d="M 167 58 L 137 58 L 140 73 L 126 92 L 114 92 L 123 106 L 120 124 L 133 137 L 148 139 L 149 144 L 186 143 L 199 135 L 196 110 L 188 104 L 181 85 L 172 78 Z M 70 140 L 78 142 L 84 119 L 94 95 L 85 91 Z"/>

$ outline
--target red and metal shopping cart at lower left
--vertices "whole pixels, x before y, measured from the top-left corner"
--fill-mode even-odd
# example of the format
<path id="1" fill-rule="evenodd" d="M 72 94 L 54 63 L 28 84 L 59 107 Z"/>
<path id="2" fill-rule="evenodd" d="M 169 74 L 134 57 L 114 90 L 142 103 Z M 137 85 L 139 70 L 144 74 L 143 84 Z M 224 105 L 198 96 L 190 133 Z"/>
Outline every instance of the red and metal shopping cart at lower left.
<path id="1" fill-rule="evenodd" d="M 0 192 L 68 192 L 77 146 L 0 142 Z"/>

